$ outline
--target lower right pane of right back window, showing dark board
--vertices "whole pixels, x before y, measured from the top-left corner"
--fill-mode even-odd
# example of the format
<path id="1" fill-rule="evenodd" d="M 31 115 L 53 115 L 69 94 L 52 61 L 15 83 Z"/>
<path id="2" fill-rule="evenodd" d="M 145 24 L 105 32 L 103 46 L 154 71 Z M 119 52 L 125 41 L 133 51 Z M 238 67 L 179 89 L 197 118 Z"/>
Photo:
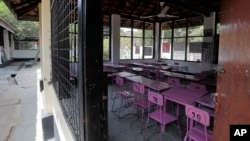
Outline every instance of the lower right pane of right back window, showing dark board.
<path id="1" fill-rule="evenodd" d="M 189 37 L 187 45 L 187 60 L 201 62 L 203 37 Z"/>

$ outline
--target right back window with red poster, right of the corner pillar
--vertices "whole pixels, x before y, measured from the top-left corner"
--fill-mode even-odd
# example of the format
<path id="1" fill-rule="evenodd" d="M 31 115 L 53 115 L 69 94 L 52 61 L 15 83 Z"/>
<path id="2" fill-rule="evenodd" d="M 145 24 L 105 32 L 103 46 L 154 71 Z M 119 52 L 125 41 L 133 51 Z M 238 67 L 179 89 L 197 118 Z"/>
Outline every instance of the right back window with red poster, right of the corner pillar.
<path id="1" fill-rule="evenodd" d="M 203 24 L 203 17 L 162 23 L 160 58 L 201 62 Z"/>

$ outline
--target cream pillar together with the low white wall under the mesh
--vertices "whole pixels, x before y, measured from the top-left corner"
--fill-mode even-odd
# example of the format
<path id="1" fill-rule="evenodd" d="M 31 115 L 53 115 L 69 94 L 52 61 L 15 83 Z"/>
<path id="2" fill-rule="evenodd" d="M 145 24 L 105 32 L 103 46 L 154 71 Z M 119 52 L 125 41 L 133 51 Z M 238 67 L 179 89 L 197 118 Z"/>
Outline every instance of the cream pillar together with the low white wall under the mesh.
<path id="1" fill-rule="evenodd" d="M 53 114 L 55 127 L 57 128 L 58 135 L 61 141 L 74 141 L 74 135 L 71 132 L 68 123 L 63 115 L 60 102 L 56 95 L 53 85 L 51 85 L 51 48 L 50 48 L 50 35 L 51 35 L 51 21 L 50 21 L 50 0 L 42 0 L 39 8 L 39 21 L 40 21 L 40 52 L 41 52 L 41 75 L 44 82 L 43 114 Z"/>

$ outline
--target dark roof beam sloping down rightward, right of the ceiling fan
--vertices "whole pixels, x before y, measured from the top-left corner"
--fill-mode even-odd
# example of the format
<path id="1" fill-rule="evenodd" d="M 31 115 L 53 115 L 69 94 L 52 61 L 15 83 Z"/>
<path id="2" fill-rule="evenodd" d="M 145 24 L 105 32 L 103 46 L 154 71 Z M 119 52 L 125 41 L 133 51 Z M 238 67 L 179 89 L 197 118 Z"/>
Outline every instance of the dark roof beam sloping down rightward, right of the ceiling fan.
<path id="1" fill-rule="evenodd" d="M 197 15 L 201 15 L 201 16 L 205 16 L 205 17 L 210 16 L 210 11 L 203 11 L 203 10 L 197 9 L 193 5 L 188 5 L 188 4 L 181 2 L 181 1 L 167 0 L 167 1 L 165 1 L 165 3 L 169 6 L 175 6 L 175 7 L 178 7 L 180 9 L 188 10 L 192 13 L 197 14 Z"/>

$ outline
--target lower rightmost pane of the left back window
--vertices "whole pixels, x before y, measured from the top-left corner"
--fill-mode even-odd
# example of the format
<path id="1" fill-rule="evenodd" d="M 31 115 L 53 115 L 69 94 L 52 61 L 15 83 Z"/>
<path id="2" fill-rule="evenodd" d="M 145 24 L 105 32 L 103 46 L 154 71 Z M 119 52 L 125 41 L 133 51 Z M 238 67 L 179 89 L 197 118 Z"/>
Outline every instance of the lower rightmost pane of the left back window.
<path id="1" fill-rule="evenodd" d="M 154 39 L 145 39 L 144 41 L 144 58 L 145 59 L 153 58 L 153 44 L 154 44 Z"/>

